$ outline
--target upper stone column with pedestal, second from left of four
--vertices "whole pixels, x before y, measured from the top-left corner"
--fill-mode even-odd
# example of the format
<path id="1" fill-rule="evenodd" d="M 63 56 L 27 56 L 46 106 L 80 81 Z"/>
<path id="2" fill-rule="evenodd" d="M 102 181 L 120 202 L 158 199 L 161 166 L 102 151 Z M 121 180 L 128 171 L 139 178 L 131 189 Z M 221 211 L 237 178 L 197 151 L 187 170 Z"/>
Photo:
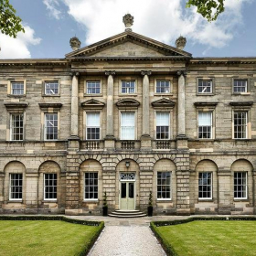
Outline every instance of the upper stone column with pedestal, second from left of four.
<path id="1" fill-rule="evenodd" d="M 107 134 L 105 137 L 105 148 L 113 149 L 115 146 L 115 138 L 113 135 L 113 76 L 115 71 L 106 71 L 108 76 L 108 96 L 107 96 Z"/>

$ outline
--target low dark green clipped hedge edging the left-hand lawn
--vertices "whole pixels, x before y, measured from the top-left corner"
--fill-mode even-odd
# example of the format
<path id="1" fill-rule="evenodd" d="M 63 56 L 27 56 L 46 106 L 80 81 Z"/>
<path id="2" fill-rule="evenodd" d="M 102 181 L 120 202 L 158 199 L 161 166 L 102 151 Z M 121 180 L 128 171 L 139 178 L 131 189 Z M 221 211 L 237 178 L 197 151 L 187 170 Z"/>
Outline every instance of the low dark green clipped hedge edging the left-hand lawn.
<path id="1" fill-rule="evenodd" d="M 103 221 L 90 221 L 90 220 L 81 220 L 81 219 L 69 219 L 65 216 L 10 216 L 10 215 L 0 215 L 0 220 L 61 220 L 66 221 L 69 223 L 86 225 L 86 226 L 97 226 L 99 229 L 96 229 L 91 236 L 91 240 L 88 244 L 84 245 L 82 251 L 80 251 L 77 256 L 84 256 L 87 255 L 88 252 L 91 250 L 94 242 L 98 239 L 101 234 L 102 229 L 104 229 L 104 222 Z"/>

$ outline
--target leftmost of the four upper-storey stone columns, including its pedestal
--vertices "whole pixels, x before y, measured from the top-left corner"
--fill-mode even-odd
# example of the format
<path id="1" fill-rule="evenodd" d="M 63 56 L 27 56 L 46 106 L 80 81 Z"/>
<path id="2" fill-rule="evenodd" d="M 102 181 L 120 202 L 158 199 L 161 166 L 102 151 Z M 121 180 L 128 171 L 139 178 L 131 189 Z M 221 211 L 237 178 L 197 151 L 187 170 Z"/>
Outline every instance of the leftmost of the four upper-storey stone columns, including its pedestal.
<path id="1" fill-rule="evenodd" d="M 71 128 L 69 137 L 69 150 L 80 148 L 79 137 L 79 72 L 72 74 L 71 86 Z"/>

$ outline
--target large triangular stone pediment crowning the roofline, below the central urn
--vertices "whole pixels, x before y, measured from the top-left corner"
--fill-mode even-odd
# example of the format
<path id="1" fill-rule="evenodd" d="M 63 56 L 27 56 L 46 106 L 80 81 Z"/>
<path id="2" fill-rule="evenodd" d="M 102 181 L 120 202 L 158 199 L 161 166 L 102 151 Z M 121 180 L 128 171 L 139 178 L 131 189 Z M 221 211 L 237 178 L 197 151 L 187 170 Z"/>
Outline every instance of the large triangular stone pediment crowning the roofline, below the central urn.
<path id="1" fill-rule="evenodd" d="M 191 57 L 191 54 L 133 32 L 114 37 L 72 51 L 67 58 L 101 57 Z"/>

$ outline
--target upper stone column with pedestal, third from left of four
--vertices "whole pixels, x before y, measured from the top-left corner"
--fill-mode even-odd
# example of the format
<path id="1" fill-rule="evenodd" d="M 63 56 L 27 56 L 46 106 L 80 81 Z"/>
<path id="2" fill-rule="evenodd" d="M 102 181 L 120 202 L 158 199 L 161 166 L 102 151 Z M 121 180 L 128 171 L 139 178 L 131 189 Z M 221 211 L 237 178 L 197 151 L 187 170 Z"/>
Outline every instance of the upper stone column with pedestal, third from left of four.
<path id="1" fill-rule="evenodd" d="M 149 134 L 149 76 L 150 70 L 143 70 L 143 134 L 141 137 L 142 150 L 151 150 L 151 137 Z"/>

